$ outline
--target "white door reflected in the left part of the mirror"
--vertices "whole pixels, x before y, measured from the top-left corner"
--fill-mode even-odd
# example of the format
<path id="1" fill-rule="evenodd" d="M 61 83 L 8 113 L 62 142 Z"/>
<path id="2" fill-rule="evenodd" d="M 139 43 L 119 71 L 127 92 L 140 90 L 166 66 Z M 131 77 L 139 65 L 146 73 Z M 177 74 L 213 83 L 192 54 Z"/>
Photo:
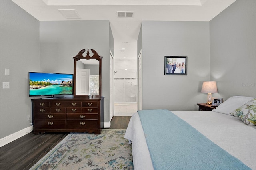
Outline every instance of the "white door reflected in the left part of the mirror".
<path id="1" fill-rule="evenodd" d="M 76 69 L 76 94 L 88 95 L 90 83 L 90 69 Z"/>

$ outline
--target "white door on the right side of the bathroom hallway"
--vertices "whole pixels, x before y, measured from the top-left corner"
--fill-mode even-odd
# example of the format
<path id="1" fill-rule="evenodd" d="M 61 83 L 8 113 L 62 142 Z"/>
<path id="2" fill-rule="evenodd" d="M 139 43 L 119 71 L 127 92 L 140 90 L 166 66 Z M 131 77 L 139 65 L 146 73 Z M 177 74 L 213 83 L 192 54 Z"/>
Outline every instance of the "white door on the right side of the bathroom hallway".
<path id="1" fill-rule="evenodd" d="M 142 110 L 142 52 L 138 55 L 138 110 Z"/>

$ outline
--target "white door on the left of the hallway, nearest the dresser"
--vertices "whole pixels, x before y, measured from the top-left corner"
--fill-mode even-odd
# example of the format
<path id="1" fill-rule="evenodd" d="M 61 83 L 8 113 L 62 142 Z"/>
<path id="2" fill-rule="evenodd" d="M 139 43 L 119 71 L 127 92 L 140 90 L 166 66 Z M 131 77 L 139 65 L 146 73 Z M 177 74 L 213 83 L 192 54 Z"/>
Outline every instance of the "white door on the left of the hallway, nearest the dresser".
<path id="1" fill-rule="evenodd" d="M 109 104 L 110 104 L 110 120 L 114 116 L 114 57 L 109 50 Z"/>

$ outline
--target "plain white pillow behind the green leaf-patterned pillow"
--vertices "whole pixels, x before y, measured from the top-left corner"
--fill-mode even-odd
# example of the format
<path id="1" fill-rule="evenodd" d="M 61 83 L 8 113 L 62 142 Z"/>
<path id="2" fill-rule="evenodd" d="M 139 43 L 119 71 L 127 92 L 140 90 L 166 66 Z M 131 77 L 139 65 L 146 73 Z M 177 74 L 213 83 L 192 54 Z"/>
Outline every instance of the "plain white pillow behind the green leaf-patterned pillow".
<path id="1" fill-rule="evenodd" d="M 251 97 L 253 99 L 253 97 Z M 238 107 L 244 105 L 248 101 L 250 101 L 250 98 L 243 98 L 243 97 L 230 97 L 228 100 L 221 103 L 216 109 L 213 109 L 214 112 L 224 113 L 227 115 L 230 115 L 232 111 L 237 109 Z"/>

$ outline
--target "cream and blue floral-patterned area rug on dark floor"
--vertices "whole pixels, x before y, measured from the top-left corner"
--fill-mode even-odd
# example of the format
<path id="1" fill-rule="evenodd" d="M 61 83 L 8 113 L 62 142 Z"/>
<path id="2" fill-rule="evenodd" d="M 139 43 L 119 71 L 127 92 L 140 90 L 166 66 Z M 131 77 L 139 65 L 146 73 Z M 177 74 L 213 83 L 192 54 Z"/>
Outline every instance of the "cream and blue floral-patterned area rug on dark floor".
<path id="1" fill-rule="evenodd" d="M 70 133 L 30 170 L 132 170 L 132 145 L 125 132 Z"/>

